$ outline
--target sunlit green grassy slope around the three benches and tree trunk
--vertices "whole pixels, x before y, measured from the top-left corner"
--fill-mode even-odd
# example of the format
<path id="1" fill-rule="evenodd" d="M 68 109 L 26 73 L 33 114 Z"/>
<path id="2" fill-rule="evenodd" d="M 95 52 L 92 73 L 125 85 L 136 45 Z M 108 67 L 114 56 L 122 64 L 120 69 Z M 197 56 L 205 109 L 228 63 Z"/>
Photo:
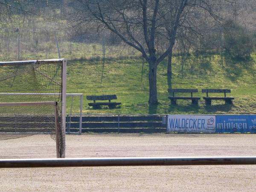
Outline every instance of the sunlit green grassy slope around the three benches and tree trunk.
<path id="1" fill-rule="evenodd" d="M 69 61 L 67 67 L 67 92 L 84 93 L 83 113 L 150 113 L 150 114 L 256 114 L 256 55 L 247 61 L 237 61 L 224 58 L 224 67 L 220 55 L 207 55 L 196 58 L 190 56 L 186 60 L 183 77 L 180 57 L 173 59 L 173 78 L 169 87 L 198 88 L 201 96 L 198 106 L 190 101 L 178 100 L 177 105 L 171 105 L 168 99 L 168 82 L 166 76 L 166 61 L 163 61 L 157 71 L 157 88 L 159 105 L 148 105 L 148 64 L 144 65 L 143 81 L 141 81 L 142 59 L 119 58 L 109 59 L 105 63 L 103 82 L 101 81 L 102 61 L 79 60 Z M 192 66 L 192 67 L 191 67 Z M 191 70 L 192 69 L 192 70 Z M 205 106 L 201 88 L 231 89 L 234 96 L 233 105 L 213 101 L 212 106 Z M 86 95 L 116 94 L 121 107 L 116 109 L 89 108 Z M 190 93 L 189 93 L 190 94 Z M 218 96 L 218 95 L 216 95 Z M 220 94 L 221 96 L 221 94 Z"/>

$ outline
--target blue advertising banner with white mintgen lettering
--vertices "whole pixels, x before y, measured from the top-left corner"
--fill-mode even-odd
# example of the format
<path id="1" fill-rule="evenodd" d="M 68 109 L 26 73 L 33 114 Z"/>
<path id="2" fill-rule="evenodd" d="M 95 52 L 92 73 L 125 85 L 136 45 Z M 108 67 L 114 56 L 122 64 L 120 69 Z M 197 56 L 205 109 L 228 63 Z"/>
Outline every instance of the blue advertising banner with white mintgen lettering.
<path id="1" fill-rule="evenodd" d="M 256 115 L 216 115 L 216 133 L 256 133 Z"/>

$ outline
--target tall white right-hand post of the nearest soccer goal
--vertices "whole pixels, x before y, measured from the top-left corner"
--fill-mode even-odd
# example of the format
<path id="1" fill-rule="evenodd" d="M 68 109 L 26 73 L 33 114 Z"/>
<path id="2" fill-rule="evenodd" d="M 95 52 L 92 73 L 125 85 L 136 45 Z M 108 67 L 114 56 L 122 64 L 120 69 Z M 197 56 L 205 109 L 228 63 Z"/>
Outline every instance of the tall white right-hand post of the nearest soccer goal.
<path id="1" fill-rule="evenodd" d="M 67 85 L 67 60 L 62 60 L 62 93 L 61 93 L 61 116 L 62 116 L 62 126 L 61 126 L 61 138 L 62 143 L 65 143 L 65 133 L 66 133 L 66 85 Z M 65 158 L 65 145 L 62 146 L 61 158 Z"/>

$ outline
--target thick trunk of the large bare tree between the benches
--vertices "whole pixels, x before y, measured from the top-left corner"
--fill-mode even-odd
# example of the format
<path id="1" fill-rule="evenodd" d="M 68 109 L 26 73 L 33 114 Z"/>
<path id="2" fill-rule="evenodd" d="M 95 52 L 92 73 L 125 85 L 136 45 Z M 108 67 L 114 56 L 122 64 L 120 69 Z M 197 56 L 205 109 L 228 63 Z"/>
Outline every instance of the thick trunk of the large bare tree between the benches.
<path id="1" fill-rule="evenodd" d="M 148 72 L 148 82 L 149 82 L 149 104 L 158 104 L 157 101 L 157 64 L 155 61 L 148 61 L 149 72 Z"/>

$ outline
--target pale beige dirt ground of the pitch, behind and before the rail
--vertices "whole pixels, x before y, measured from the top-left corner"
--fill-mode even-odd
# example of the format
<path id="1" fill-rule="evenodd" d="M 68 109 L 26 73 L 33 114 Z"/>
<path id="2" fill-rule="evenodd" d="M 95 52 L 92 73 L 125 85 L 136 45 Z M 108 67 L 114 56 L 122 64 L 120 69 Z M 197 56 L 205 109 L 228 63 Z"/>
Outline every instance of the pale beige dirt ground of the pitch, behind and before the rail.
<path id="1" fill-rule="evenodd" d="M 256 156 L 256 134 L 66 136 L 66 157 Z M 37 135 L 0 141 L 0 158 L 55 157 Z M 0 191 L 255 191 L 256 166 L 128 166 L 0 169 Z"/>

